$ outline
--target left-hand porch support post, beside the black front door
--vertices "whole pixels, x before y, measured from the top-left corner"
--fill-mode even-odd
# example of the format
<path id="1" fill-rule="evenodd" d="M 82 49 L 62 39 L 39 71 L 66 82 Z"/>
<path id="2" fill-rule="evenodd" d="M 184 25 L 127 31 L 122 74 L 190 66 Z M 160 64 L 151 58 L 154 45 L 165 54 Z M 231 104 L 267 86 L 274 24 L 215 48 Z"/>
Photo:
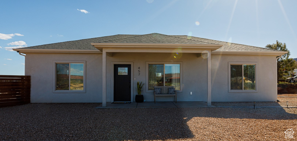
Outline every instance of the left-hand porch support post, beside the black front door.
<path id="1" fill-rule="evenodd" d="M 102 52 L 102 107 L 106 107 L 106 51 Z"/>

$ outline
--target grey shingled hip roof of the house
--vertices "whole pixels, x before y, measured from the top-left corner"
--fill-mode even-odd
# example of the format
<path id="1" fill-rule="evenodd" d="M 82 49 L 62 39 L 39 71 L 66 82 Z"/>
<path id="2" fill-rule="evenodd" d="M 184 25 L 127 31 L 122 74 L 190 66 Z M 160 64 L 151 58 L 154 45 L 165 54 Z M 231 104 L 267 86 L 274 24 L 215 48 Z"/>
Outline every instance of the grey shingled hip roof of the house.
<path id="1" fill-rule="evenodd" d="M 151 33 L 144 35 L 112 35 L 75 41 L 58 42 L 46 45 L 23 47 L 19 49 L 62 49 L 62 50 L 97 50 L 91 43 L 150 43 L 150 44 L 212 44 L 223 45 L 215 51 L 277 51 L 263 47 L 241 45 L 236 43 L 222 42 L 187 35 L 165 35 Z"/>

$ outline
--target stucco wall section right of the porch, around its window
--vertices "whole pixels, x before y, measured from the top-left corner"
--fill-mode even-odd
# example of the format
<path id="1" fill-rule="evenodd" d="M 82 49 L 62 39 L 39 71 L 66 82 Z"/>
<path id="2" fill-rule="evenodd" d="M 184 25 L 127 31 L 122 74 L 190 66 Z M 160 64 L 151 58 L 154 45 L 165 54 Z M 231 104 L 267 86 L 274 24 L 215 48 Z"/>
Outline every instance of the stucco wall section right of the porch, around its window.
<path id="1" fill-rule="evenodd" d="M 257 92 L 228 92 L 228 62 L 257 62 Z M 275 56 L 211 55 L 212 102 L 259 102 L 277 100 L 277 66 Z"/>

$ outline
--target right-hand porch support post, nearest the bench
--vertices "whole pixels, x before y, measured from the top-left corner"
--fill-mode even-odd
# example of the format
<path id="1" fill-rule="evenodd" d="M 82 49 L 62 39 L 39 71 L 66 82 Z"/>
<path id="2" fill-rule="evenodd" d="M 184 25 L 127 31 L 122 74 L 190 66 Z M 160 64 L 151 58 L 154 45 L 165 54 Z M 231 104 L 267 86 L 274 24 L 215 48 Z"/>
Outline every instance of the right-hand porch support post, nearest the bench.
<path id="1" fill-rule="evenodd" d="M 211 106 L 211 50 L 207 56 L 207 106 Z"/>

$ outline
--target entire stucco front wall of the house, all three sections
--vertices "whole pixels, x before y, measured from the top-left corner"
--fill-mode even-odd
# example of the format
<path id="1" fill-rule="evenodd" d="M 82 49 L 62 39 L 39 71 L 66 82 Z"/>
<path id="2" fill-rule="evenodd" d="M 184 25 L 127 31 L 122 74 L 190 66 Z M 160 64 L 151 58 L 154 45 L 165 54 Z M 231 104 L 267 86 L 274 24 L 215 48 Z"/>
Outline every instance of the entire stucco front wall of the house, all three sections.
<path id="1" fill-rule="evenodd" d="M 114 62 L 133 64 L 133 101 L 137 91 L 136 83 L 146 80 L 147 61 L 159 63 L 182 62 L 182 91 L 177 101 L 207 101 L 207 59 L 199 53 L 112 53 L 106 58 L 106 101 L 113 99 Z M 53 93 L 53 61 L 86 61 L 85 93 Z M 257 92 L 228 92 L 228 62 L 257 62 Z M 101 53 L 26 53 L 25 75 L 31 75 L 31 103 L 71 103 L 102 102 L 102 54 Z M 140 67 L 140 75 L 138 75 Z M 252 102 L 276 101 L 275 56 L 259 55 L 219 55 L 211 54 L 211 101 L 212 102 Z M 192 92 L 192 95 L 190 95 Z M 146 102 L 154 101 L 154 94 L 143 87 Z M 173 96 L 158 96 L 156 101 L 173 101 Z"/>

